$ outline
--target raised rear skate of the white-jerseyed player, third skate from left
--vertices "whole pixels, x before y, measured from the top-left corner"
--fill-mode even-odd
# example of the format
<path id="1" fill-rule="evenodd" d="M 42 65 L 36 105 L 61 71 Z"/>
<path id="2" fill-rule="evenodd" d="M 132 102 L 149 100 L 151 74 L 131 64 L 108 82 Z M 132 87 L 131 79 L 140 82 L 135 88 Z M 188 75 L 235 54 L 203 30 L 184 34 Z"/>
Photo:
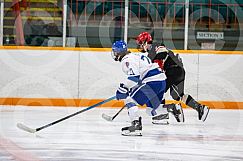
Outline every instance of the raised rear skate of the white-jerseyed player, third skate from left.
<path id="1" fill-rule="evenodd" d="M 177 122 L 185 121 L 183 109 L 180 104 L 170 104 L 168 112 L 171 112 L 175 116 Z"/>

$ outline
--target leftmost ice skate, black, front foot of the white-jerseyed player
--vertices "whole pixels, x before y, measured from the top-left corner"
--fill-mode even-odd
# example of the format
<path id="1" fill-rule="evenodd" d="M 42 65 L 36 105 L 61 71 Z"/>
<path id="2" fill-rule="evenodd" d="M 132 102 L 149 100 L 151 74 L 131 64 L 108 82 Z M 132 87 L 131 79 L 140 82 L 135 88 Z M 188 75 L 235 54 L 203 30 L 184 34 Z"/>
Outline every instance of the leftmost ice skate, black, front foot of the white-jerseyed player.
<path id="1" fill-rule="evenodd" d="M 142 136 L 142 118 L 132 121 L 132 125 L 122 128 L 124 136 Z"/>

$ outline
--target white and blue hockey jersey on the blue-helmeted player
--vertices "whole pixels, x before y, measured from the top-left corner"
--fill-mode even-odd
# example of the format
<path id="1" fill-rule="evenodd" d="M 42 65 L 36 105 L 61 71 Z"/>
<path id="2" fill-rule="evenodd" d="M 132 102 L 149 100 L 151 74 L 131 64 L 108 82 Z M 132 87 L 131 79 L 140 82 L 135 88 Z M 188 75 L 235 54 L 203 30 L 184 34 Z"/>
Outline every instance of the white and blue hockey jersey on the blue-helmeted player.
<path id="1" fill-rule="evenodd" d="M 152 63 L 146 54 L 130 53 L 123 57 L 122 71 L 127 75 L 124 85 L 132 89 L 138 84 L 166 79 L 157 63 Z"/>

